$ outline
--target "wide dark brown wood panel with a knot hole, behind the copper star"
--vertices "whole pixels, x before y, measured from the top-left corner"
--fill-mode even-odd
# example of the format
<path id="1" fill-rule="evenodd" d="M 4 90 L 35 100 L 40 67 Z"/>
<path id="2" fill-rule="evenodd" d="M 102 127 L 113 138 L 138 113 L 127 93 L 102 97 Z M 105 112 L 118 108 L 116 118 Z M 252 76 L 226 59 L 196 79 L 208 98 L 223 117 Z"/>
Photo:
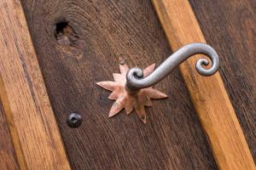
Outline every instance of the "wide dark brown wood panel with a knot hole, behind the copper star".
<path id="1" fill-rule="evenodd" d="M 22 0 L 49 98 L 73 169 L 217 169 L 177 70 L 157 88 L 147 124 L 135 112 L 108 118 L 119 57 L 159 65 L 172 52 L 148 0 Z M 67 127 L 70 112 L 84 122 Z"/>

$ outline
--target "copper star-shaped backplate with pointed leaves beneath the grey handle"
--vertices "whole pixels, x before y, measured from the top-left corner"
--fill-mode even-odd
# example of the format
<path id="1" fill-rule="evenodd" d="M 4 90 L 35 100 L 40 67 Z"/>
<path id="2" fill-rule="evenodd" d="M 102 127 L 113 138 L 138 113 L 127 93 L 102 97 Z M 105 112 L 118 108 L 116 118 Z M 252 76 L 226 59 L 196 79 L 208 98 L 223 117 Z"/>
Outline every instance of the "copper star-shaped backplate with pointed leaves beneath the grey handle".
<path id="1" fill-rule="evenodd" d="M 155 64 L 149 65 L 143 70 L 144 77 L 147 77 L 152 71 L 154 71 L 154 66 Z M 113 82 L 97 82 L 97 85 L 112 91 L 108 96 L 108 99 L 115 100 L 108 116 L 115 116 L 119 111 L 125 108 L 127 115 L 129 115 L 131 111 L 135 110 L 137 112 L 137 116 L 146 123 L 145 106 L 152 106 L 151 99 L 164 99 L 168 96 L 153 87 L 143 88 L 136 94 L 130 94 L 125 88 L 126 73 L 129 70 L 129 67 L 125 63 L 121 63 L 119 65 L 119 70 L 120 73 L 113 73 Z"/>

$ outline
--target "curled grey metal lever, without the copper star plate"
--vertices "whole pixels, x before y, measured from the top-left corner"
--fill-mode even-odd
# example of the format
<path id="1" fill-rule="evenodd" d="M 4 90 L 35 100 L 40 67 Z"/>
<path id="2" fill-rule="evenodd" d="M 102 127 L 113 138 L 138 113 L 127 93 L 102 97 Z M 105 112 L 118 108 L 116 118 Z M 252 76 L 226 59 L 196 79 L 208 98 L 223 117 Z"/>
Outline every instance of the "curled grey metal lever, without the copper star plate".
<path id="1" fill-rule="evenodd" d="M 211 68 L 205 69 L 202 65 L 209 65 L 208 60 L 198 59 L 195 68 L 199 74 L 208 77 L 218 71 L 218 54 L 211 46 L 206 43 L 189 43 L 169 56 L 148 77 L 143 77 L 143 71 L 140 68 L 130 69 L 126 74 L 126 88 L 131 92 L 136 92 L 141 88 L 151 87 L 165 78 L 177 65 L 180 65 L 184 60 L 195 54 L 205 54 L 212 61 Z"/>

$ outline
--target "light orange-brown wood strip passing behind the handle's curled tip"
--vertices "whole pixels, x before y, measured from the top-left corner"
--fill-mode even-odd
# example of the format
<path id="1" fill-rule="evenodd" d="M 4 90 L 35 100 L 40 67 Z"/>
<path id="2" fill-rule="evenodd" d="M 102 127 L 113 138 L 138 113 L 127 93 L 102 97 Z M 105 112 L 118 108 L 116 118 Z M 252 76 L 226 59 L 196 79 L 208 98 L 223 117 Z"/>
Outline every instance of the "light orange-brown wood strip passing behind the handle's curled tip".
<path id="1" fill-rule="evenodd" d="M 173 50 L 189 42 L 206 42 L 188 1 L 153 0 L 153 3 Z M 180 71 L 218 167 L 254 169 L 253 157 L 224 83 L 218 73 L 212 77 L 201 77 L 195 71 L 195 62 L 199 57 L 184 62 Z"/>

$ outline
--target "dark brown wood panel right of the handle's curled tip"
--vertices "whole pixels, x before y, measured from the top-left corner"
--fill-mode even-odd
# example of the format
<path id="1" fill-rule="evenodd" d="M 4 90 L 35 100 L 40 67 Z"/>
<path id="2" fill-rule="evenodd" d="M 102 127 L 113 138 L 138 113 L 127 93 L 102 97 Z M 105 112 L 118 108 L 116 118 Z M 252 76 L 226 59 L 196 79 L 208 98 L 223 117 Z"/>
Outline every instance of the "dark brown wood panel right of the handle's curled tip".
<path id="1" fill-rule="evenodd" d="M 256 1 L 190 0 L 256 161 Z"/>

